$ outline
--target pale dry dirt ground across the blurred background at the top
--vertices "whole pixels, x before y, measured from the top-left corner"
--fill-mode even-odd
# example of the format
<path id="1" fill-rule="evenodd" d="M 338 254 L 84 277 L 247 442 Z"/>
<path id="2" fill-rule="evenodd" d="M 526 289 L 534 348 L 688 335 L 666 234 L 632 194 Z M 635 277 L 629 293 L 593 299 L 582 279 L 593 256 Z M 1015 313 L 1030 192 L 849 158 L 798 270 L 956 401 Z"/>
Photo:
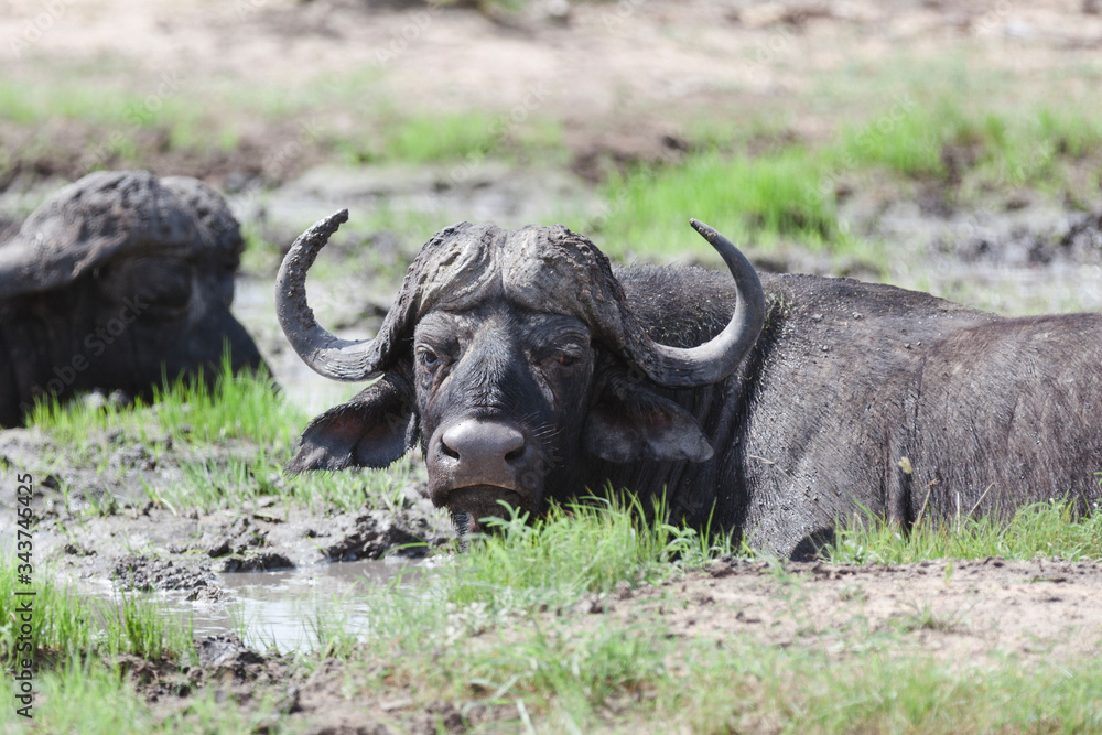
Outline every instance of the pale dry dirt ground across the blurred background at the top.
<path id="1" fill-rule="evenodd" d="M 738 120 L 775 109 L 792 137 L 808 140 L 847 114 L 866 122 L 869 110 L 823 115 L 812 105 L 824 80 L 861 84 L 863 69 L 885 61 L 903 67 L 908 60 L 920 66 L 959 57 L 970 71 L 1008 76 L 1030 96 L 1047 89 L 1059 100 L 1090 91 L 1077 64 L 1102 51 L 1102 14 L 1084 12 L 1094 7 L 1089 0 L 533 0 L 519 14 L 491 3 L 484 13 L 455 6 L 4 0 L 0 57 L 13 78 L 29 84 L 48 84 L 57 68 L 89 83 L 110 74 L 151 99 L 224 79 L 260 88 L 324 87 L 368 74 L 377 77 L 378 100 L 355 100 L 361 106 L 561 120 L 576 167 L 593 174 L 602 156 L 677 156 L 682 125 L 694 117 Z M 874 114 L 907 93 L 905 85 L 878 91 L 889 99 L 875 100 L 882 104 Z M 326 122 L 346 130 L 358 125 L 354 105 L 335 117 Z M 63 155 L 85 142 L 79 127 L 71 133 L 64 123 L 54 127 L 41 170 L 83 174 L 74 170 L 79 155 Z M 301 140 L 300 126 L 256 116 L 240 128 L 235 151 L 192 160 L 154 148 L 148 165 L 220 183 L 264 166 L 285 176 L 309 163 L 273 155 Z M 18 148 L 19 140 L 6 143 Z"/>

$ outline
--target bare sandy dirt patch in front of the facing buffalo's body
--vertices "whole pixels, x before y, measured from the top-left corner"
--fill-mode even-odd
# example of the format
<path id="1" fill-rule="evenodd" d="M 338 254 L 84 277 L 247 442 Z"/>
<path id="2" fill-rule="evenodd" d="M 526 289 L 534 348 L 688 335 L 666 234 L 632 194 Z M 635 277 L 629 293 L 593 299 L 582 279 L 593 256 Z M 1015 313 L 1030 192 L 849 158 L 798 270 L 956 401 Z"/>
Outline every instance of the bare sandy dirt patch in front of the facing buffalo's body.
<path id="1" fill-rule="evenodd" d="M 903 633 L 916 647 L 962 666 L 995 666 L 1006 653 L 1071 661 L 1102 646 L 1098 562 L 932 560 L 851 566 L 731 561 L 704 575 L 609 603 L 626 620 L 663 617 L 678 636 L 750 633 L 777 646 L 860 648 L 871 631 Z M 670 608 L 667 592 L 689 599 Z M 665 607 L 663 607 L 665 606 Z"/>

